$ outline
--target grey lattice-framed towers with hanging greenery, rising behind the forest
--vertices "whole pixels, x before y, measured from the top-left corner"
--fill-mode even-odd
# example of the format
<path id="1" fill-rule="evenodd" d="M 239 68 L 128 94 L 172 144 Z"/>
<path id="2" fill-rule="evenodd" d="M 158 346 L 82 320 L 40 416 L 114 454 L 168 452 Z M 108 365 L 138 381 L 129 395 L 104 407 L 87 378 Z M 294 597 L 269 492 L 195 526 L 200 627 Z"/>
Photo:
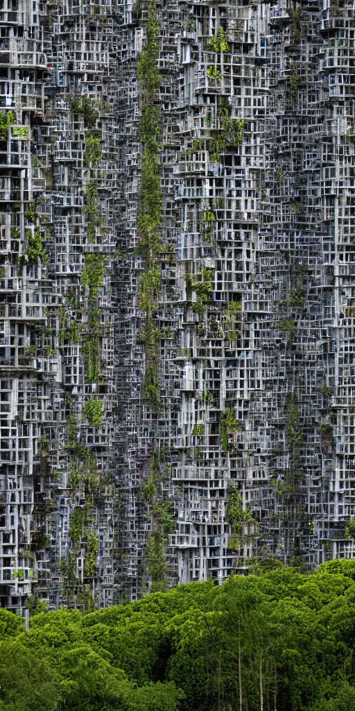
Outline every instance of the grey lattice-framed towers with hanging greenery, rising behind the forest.
<path id="1" fill-rule="evenodd" d="M 354 11 L 0 1 L 1 606 L 354 556 Z"/>

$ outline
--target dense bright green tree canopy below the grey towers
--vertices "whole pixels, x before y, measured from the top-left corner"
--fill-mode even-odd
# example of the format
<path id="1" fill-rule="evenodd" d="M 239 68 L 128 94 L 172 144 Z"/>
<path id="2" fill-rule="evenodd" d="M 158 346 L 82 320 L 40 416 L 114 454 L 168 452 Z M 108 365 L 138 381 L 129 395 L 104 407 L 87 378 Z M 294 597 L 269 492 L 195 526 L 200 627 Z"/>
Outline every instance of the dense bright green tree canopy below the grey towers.
<path id="1" fill-rule="evenodd" d="M 32 607 L 0 610 L 0 711 L 355 711 L 355 561 Z"/>

